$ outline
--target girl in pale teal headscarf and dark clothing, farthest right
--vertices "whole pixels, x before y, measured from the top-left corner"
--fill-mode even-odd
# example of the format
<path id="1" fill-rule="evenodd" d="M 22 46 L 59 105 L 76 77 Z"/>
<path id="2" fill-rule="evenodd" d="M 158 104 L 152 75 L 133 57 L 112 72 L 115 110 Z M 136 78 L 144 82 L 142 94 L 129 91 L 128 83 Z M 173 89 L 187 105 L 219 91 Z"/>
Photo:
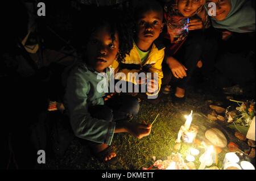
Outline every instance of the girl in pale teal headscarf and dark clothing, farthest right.
<path id="1" fill-rule="evenodd" d="M 211 17 L 218 37 L 216 85 L 227 94 L 255 97 L 255 1 L 207 0 L 207 7 L 210 2 L 216 3 Z"/>

